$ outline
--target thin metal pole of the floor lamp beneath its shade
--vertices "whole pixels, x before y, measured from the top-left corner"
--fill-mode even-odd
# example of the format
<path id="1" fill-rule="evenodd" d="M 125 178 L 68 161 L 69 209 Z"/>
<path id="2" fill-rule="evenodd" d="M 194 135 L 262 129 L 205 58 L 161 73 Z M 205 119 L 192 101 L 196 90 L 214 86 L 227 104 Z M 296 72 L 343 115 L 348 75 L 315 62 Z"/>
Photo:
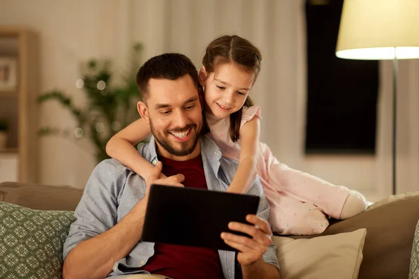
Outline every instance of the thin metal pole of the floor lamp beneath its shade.
<path id="1" fill-rule="evenodd" d="M 393 90 L 392 90 L 392 194 L 396 195 L 396 143 L 397 143 L 397 77 L 399 75 L 399 63 L 397 61 L 396 47 L 395 47 L 395 59 L 393 59 Z"/>

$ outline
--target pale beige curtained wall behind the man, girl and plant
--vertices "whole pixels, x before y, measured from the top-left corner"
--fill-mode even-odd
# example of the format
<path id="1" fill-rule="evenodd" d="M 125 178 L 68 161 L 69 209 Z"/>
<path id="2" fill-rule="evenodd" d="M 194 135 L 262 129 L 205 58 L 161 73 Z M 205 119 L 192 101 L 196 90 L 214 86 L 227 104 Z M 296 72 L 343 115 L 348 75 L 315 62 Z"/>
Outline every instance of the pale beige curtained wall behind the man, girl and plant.
<path id="1" fill-rule="evenodd" d="M 372 199 L 391 189 L 391 64 L 381 67 L 376 156 L 311 156 L 303 153 L 305 112 L 304 1 L 302 0 L 0 0 L 0 24 L 30 27 L 41 36 L 41 89 L 59 88 L 83 104 L 75 88 L 78 61 L 107 56 L 122 69 L 131 43 L 144 43 L 143 60 L 182 52 L 200 67 L 205 45 L 223 33 L 248 38 L 263 52 L 252 98 L 263 108 L 261 139 L 291 167 L 332 183 L 358 188 Z M 400 63 L 399 186 L 419 189 L 419 64 Z M 41 124 L 73 127 L 59 105 L 43 106 Z M 41 140 L 41 182 L 82 188 L 94 158 L 87 142 Z"/>

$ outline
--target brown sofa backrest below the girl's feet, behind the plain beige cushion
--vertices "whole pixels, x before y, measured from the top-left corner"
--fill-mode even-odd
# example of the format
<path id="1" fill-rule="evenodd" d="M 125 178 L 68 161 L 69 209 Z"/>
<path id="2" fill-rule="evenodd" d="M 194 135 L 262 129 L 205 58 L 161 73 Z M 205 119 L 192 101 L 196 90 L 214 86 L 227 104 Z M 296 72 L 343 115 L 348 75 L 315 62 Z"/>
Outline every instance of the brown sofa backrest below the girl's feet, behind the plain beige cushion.
<path id="1" fill-rule="evenodd" d="M 321 236 L 367 229 L 358 279 L 408 278 L 413 235 L 419 219 L 419 191 L 395 195 L 367 211 L 330 225 Z M 307 239 L 314 236 L 291 236 Z"/>

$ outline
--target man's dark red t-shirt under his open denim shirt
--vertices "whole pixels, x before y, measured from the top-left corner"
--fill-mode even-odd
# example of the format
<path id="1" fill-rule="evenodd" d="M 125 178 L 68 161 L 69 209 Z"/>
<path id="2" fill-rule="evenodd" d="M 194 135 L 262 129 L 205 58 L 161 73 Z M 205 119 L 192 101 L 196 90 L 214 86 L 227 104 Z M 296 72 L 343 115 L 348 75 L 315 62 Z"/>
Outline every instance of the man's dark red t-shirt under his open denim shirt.
<path id="1" fill-rule="evenodd" d="M 175 161 L 159 157 L 163 163 L 163 174 L 183 174 L 185 187 L 207 189 L 201 156 L 186 161 Z M 168 232 L 170 233 L 170 232 Z M 164 243 L 154 245 L 154 255 L 142 269 L 175 279 L 223 278 L 217 250 L 177 246 Z"/>

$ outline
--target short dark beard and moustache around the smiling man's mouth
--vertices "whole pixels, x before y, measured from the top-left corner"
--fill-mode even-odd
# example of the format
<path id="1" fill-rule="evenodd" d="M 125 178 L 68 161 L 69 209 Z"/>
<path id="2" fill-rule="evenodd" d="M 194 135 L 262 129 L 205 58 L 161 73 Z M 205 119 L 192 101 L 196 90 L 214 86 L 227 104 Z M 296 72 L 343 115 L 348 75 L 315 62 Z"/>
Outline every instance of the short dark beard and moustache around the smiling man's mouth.
<path id="1" fill-rule="evenodd" d="M 154 129 L 152 119 L 150 119 L 150 128 L 152 130 L 152 134 L 154 135 L 154 138 L 156 139 L 156 142 L 159 142 L 161 147 L 163 147 L 163 149 L 166 149 L 168 153 L 174 156 L 187 156 L 196 149 L 196 145 L 198 144 L 198 141 L 199 141 L 199 134 L 200 134 L 202 125 L 198 127 L 195 123 L 191 123 L 191 124 L 186 125 L 184 128 L 175 128 L 175 129 L 170 130 L 172 132 L 182 133 L 182 132 L 185 132 L 186 130 L 191 129 L 189 133 L 192 133 L 192 135 L 191 135 L 191 138 L 189 138 L 189 140 L 187 140 L 186 142 L 177 142 L 180 144 L 179 149 L 173 146 L 172 142 L 170 141 L 168 137 L 170 133 L 168 130 L 165 129 L 163 131 L 164 135 L 162 135 L 159 131 Z"/>

